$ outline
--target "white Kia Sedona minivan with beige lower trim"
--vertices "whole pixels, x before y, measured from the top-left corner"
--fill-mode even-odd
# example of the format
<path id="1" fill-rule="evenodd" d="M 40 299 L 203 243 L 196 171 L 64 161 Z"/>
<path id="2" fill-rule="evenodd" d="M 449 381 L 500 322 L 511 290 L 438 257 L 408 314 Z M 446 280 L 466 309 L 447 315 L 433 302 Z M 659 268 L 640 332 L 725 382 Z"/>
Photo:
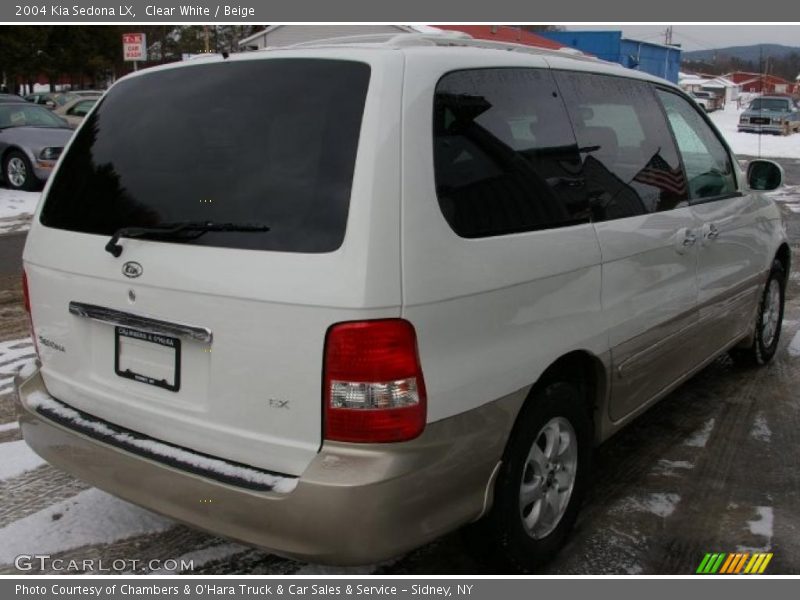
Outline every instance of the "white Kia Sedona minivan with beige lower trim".
<path id="1" fill-rule="evenodd" d="M 280 555 L 477 522 L 528 571 L 593 446 L 721 353 L 775 353 L 781 181 L 676 86 L 558 51 L 404 34 L 142 70 L 28 236 L 22 432 Z"/>

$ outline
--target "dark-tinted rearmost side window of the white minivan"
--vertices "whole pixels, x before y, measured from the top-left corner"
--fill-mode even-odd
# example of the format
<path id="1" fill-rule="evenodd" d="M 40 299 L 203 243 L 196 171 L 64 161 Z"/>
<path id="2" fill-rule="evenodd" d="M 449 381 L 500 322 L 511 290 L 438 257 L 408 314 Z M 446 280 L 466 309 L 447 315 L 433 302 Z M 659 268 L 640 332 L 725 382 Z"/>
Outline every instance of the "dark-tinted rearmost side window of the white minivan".
<path id="1" fill-rule="evenodd" d="M 455 71 L 434 98 L 436 193 L 461 237 L 591 219 L 578 147 L 548 70 Z"/>

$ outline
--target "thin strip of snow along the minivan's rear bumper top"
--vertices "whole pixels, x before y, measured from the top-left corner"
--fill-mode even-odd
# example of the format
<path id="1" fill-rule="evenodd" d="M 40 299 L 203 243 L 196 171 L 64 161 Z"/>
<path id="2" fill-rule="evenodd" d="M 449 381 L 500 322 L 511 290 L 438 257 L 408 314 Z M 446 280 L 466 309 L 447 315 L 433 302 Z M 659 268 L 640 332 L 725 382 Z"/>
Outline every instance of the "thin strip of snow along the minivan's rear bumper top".
<path id="1" fill-rule="evenodd" d="M 28 396 L 28 402 L 34 409 L 41 408 L 49 411 L 62 419 L 71 421 L 78 427 L 89 429 L 98 435 L 111 438 L 125 446 L 138 448 L 157 456 L 163 456 L 164 458 L 169 458 L 187 466 L 263 485 L 281 494 L 288 494 L 297 486 L 298 480 L 295 477 L 281 477 L 280 475 L 272 475 L 248 467 L 240 467 L 223 460 L 202 456 L 182 448 L 170 446 L 163 442 L 139 439 L 128 433 L 115 431 L 103 423 L 82 417 L 78 411 L 53 400 L 43 392 L 32 392 L 31 395 Z"/>

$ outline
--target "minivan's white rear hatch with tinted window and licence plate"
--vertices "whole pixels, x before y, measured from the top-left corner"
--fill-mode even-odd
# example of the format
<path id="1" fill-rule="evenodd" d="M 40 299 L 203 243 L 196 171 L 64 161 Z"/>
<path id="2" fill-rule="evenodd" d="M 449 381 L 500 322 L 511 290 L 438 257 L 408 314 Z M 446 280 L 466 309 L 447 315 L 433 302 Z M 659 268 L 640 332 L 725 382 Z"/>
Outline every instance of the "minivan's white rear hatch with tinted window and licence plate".
<path id="1" fill-rule="evenodd" d="M 25 250 L 52 396 L 169 444 L 302 473 L 321 444 L 329 326 L 400 314 L 399 186 L 376 165 L 399 147 L 380 115 L 401 77 L 370 60 L 200 60 L 109 91 Z M 209 222 L 251 230 L 151 231 Z M 140 235 L 122 235 L 116 257 L 105 247 L 121 228 Z"/>

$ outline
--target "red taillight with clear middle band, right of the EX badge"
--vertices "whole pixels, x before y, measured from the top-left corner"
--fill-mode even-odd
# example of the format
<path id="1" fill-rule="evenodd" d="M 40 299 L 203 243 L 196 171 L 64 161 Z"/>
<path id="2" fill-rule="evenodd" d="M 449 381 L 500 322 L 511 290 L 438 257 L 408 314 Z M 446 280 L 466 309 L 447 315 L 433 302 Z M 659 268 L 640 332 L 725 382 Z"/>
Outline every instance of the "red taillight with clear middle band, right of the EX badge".
<path id="1" fill-rule="evenodd" d="M 414 326 L 402 319 L 339 323 L 325 341 L 325 438 L 402 442 L 425 429 L 425 381 Z"/>

